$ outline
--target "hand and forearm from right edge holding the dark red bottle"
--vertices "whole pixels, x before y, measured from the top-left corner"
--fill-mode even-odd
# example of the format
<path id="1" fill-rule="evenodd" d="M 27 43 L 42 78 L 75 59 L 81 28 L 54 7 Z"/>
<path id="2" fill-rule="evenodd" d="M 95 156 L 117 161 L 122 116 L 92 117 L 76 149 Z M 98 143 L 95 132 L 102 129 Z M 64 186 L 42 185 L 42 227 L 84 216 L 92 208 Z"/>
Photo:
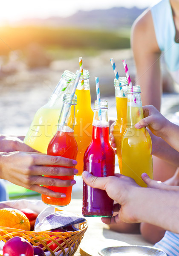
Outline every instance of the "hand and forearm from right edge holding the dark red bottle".
<path id="1" fill-rule="evenodd" d="M 115 206 L 119 210 L 118 215 L 102 218 L 104 223 L 147 222 L 179 233 L 176 225 L 179 221 L 179 191 L 142 188 L 130 177 L 120 174 L 115 177 L 95 177 L 83 172 L 82 177 L 87 185 L 106 190 L 109 197 L 121 205 Z"/>

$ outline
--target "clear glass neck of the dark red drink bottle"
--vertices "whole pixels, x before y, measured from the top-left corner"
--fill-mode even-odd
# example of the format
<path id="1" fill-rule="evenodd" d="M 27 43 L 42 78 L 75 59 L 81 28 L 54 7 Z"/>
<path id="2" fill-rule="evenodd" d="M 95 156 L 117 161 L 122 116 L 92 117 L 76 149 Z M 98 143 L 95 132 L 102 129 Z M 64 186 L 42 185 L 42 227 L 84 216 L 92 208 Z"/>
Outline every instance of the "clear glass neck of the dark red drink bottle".
<path id="1" fill-rule="evenodd" d="M 107 109 L 95 109 L 92 122 L 92 141 L 98 143 L 109 143 L 109 125 Z"/>

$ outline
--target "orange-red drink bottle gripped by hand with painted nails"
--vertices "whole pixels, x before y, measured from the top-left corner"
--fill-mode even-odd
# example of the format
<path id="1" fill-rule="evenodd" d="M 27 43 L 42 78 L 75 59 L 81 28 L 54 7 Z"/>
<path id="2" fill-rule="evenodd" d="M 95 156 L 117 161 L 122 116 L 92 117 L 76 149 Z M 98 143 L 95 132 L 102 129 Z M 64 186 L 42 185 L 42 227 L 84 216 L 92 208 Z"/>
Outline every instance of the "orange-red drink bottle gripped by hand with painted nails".
<path id="1" fill-rule="evenodd" d="M 74 123 L 75 123 L 75 105 L 77 97 L 74 95 L 73 100 L 71 93 L 66 93 L 63 98 L 63 106 L 61 109 L 58 129 L 55 136 L 50 141 L 47 148 L 47 155 L 62 156 L 76 160 L 78 146 L 74 137 Z M 70 105 L 70 108 L 69 108 Z M 68 115 L 66 116 L 68 109 Z M 65 118 L 66 116 L 66 118 Z M 66 120 L 64 122 L 64 120 Z M 63 166 L 65 167 L 65 166 Z M 61 180 L 71 180 L 72 176 L 46 176 L 55 177 Z M 57 187 L 57 186 L 46 186 L 55 192 L 61 192 L 66 195 L 66 198 L 54 198 L 47 195 L 42 195 L 42 201 L 45 204 L 54 206 L 66 206 L 71 201 L 72 186 L 69 187 Z"/>

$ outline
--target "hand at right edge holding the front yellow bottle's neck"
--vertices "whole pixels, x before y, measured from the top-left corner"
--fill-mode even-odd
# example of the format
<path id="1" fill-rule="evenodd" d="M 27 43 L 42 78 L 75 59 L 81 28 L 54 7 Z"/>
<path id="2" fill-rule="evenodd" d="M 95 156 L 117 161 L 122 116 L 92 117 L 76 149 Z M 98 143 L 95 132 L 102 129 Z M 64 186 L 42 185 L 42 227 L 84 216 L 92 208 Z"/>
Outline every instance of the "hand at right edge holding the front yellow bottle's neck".
<path id="1" fill-rule="evenodd" d="M 179 151 L 179 126 L 167 120 L 152 105 L 143 107 L 144 118 L 135 124 L 135 128 L 140 129 L 148 126 L 150 131 L 165 140 L 171 147 Z"/>

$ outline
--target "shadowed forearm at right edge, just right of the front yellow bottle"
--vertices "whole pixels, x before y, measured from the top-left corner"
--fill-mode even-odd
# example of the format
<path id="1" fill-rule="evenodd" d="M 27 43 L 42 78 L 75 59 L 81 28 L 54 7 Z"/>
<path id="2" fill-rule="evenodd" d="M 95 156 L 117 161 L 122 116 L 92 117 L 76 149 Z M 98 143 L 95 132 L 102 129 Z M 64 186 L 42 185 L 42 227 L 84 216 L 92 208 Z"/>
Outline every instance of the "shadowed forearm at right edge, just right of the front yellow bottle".
<path id="1" fill-rule="evenodd" d="M 179 166 L 179 152 L 167 144 L 162 138 L 157 139 L 157 143 L 154 145 L 153 155 L 165 160 L 167 163 L 171 163 L 174 166 Z"/>

